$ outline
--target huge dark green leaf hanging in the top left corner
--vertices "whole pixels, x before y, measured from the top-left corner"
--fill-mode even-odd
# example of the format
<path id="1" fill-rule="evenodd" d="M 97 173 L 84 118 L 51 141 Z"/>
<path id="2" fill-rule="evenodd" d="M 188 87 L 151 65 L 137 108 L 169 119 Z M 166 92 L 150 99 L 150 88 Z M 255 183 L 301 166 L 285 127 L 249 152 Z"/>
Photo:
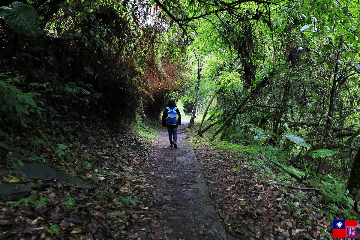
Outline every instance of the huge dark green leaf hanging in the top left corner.
<path id="1" fill-rule="evenodd" d="M 13 2 L 15 9 L 7 6 L 0 8 L 0 13 L 4 20 L 15 31 L 37 37 L 40 34 L 40 21 L 35 8 L 28 4 Z"/>

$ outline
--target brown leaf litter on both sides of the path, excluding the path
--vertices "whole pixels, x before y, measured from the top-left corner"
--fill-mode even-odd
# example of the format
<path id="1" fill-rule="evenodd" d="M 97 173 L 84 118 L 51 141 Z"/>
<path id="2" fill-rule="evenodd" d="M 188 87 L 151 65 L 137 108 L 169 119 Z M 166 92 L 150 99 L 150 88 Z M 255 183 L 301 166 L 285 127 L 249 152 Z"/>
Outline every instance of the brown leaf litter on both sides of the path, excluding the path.
<path id="1" fill-rule="evenodd" d="M 161 134 L 166 138 L 167 133 Z M 183 134 L 183 141 L 187 141 L 193 133 Z M 175 191 L 174 186 L 192 198 L 209 198 L 207 204 L 215 209 L 211 213 L 217 216 L 210 217 L 196 209 L 182 209 L 189 212 L 187 216 L 193 210 L 200 214 L 188 219 L 204 223 L 203 228 L 196 229 L 197 236 L 210 236 L 205 227 L 209 221 L 216 222 L 217 217 L 222 219 L 224 239 L 326 239 L 324 233 L 331 236 L 331 222 L 321 211 L 325 207 L 317 191 L 287 188 L 276 178 L 262 174 L 264 169 L 254 171 L 247 153 L 234 158 L 228 151 L 201 141 L 194 145 L 197 160 L 190 166 L 193 178 L 175 182 L 173 173 L 181 167 L 177 166 L 181 159 L 161 154 L 163 141 L 153 140 L 151 145 L 133 132 L 114 129 L 98 137 L 80 136 L 72 149 L 84 154 L 67 164 L 78 178 L 93 187 L 55 179 L 30 181 L 16 173 L 8 174 L 8 169 L 2 167 L 1 182 L 24 181 L 32 185 L 33 191 L 22 201 L 1 202 L 0 240 L 175 239 L 176 226 L 167 225 L 169 219 L 164 217 L 170 214 L 171 221 L 176 222 L 181 215 L 182 203 L 169 194 Z M 52 156 L 50 151 L 44 152 L 45 162 L 67 171 Z M 264 155 L 260 156 L 264 159 Z M 174 164 L 173 172 L 157 164 L 164 159 Z M 205 190 L 200 193 L 196 183 L 206 185 Z M 300 202 L 298 196 L 309 201 Z"/>

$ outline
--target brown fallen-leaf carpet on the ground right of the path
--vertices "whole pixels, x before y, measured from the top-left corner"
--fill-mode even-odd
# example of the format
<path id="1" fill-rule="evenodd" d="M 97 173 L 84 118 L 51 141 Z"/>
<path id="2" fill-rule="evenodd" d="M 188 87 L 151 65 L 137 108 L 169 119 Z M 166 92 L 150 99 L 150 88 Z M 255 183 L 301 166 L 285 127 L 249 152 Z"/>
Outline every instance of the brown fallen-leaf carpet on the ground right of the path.
<path id="1" fill-rule="evenodd" d="M 262 174 L 263 168 L 255 171 L 249 167 L 254 159 L 246 152 L 234 158 L 210 144 L 195 145 L 194 149 L 213 182 L 212 196 L 219 213 L 229 216 L 229 234 L 240 239 L 326 239 L 325 231 L 332 235 L 332 222 L 324 216 L 325 203 L 317 191 L 284 188 L 278 179 Z M 273 172 L 276 176 L 276 169 Z M 298 185 L 289 181 L 289 186 Z"/>

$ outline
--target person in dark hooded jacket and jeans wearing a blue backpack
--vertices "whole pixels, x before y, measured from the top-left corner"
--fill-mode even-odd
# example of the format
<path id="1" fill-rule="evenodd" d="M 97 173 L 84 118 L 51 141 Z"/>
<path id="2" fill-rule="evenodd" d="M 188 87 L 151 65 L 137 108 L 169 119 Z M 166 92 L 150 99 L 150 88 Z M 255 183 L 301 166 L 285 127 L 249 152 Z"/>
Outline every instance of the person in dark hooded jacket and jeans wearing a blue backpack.
<path id="1" fill-rule="evenodd" d="M 173 115 L 175 115 L 176 119 L 171 117 L 173 115 L 168 114 L 169 111 L 176 111 Z M 177 140 L 177 127 L 181 125 L 181 114 L 179 109 L 177 109 L 176 103 L 174 99 L 169 99 L 166 104 L 166 108 L 164 109 L 164 112 L 162 113 L 161 118 L 161 125 L 164 127 L 167 127 L 167 131 L 169 132 L 169 140 L 170 140 L 170 147 L 177 148 L 176 140 Z M 172 136 L 174 136 L 174 141 L 172 141 Z"/>

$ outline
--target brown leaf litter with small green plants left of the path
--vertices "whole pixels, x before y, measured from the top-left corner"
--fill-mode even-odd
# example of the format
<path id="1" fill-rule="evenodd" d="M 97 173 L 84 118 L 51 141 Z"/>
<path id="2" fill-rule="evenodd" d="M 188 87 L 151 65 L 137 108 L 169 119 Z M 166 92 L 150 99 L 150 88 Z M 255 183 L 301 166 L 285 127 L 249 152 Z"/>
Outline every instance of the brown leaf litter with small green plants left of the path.
<path id="1" fill-rule="evenodd" d="M 67 164 L 92 187 L 56 179 L 32 181 L 15 172 L 10 178 L 10 169 L 1 166 L 1 182 L 20 179 L 32 186 L 32 192 L 20 200 L 0 202 L 0 240 L 126 239 L 137 235 L 135 230 L 127 230 L 146 220 L 138 196 L 144 180 L 134 174 L 132 165 L 140 158 L 147 159 L 148 144 L 125 130 L 79 136 L 73 139 L 71 153 L 83 154 Z M 49 166 L 66 171 L 50 151 L 44 152 L 44 159 Z"/>

